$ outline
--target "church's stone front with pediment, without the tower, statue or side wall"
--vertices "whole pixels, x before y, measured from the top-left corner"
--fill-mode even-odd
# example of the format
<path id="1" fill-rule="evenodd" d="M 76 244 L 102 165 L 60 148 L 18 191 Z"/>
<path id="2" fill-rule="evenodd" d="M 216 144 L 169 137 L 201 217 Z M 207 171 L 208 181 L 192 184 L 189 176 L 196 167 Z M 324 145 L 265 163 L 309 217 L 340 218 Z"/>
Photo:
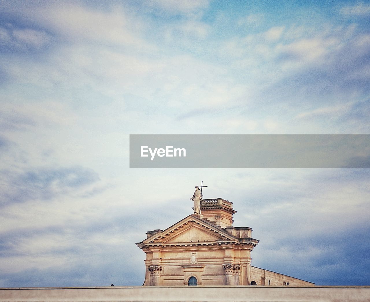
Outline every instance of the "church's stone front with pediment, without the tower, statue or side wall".
<path id="1" fill-rule="evenodd" d="M 251 231 L 248 228 L 249 234 Z M 249 285 L 250 252 L 258 240 L 246 238 L 248 232 L 240 238 L 236 236 L 240 232 L 233 235 L 197 215 L 189 215 L 137 245 L 147 254 L 148 268 L 162 266 L 158 285 L 187 285 L 192 276 L 198 285 Z M 223 269 L 225 264 L 238 267 L 238 272 L 233 271 L 228 276 Z M 151 273 L 147 272 L 144 285 L 151 286 L 153 282 Z"/>

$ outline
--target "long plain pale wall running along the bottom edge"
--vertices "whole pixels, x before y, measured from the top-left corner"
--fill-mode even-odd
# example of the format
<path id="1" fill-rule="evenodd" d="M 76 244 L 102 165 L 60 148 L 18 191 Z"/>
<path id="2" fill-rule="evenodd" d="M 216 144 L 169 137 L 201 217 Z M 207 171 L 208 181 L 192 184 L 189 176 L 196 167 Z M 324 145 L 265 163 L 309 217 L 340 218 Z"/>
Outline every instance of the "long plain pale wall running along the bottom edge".
<path id="1" fill-rule="evenodd" d="M 0 288 L 0 301 L 370 301 L 370 286 Z"/>

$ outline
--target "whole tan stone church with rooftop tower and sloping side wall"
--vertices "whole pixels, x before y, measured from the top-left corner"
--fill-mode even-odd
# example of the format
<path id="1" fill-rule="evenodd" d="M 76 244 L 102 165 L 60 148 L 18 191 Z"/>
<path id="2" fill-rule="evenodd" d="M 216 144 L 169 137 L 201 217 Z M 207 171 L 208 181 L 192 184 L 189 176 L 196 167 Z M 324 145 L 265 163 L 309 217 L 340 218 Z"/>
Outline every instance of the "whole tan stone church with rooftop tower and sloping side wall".
<path id="1" fill-rule="evenodd" d="M 314 285 L 251 266 L 259 241 L 251 228 L 233 227 L 232 202 L 203 199 L 200 209 L 164 231 L 148 231 L 137 243 L 146 254 L 144 286 Z"/>

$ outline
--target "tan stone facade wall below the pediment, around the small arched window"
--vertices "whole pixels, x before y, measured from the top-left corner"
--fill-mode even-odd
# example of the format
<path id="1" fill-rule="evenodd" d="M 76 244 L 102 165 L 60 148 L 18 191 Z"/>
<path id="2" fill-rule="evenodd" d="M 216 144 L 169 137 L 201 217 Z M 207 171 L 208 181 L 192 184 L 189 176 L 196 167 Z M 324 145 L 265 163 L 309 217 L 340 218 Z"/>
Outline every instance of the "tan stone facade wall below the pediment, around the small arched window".
<path id="1" fill-rule="evenodd" d="M 159 286 L 188 285 L 188 280 L 191 276 L 197 279 L 198 285 L 248 285 L 246 280 L 250 251 L 223 249 L 219 246 L 214 247 L 212 250 L 211 248 L 189 247 L 178 248 L 178 251 L 156 252 L 156 261 L 153 261 L 154 253 L 147 253 L 144 286 L 153 284 L 158 284 Z M 192 255 L 194 255 L 194 263 L 191 261 Z M 232 269 L 229 272 L 224 268 L 225 258 L 237 259 L 235 262 L 240 263 L 238 269 Z M 234 262 L 232 260 L 227 263 Z M 159 270 L 151 269 L 154 266 L 158 267 Z M 231 277 L 229 278 L 232 278 L 232 280 L 228 281 L 226 275 L 230 275 Z M 153 278 L 158 278 L 158 283 L 152 283 L 154 281 Z"/>

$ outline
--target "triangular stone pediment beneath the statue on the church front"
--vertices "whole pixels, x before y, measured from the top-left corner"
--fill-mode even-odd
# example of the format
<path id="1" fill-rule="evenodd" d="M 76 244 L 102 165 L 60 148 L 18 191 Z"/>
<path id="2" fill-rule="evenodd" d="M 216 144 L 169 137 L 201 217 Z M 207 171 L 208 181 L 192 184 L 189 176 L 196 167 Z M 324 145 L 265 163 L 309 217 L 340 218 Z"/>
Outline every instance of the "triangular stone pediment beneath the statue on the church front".
<path id="1" fill-rule="evenodd" d="M 158 232 L 143 241 L 144 244 L 181 244 L 189 242 L 216 242 L 235 240 L 235 237 L 209 221 L 194 215 L 182 219 L 164 231 Z"/>

